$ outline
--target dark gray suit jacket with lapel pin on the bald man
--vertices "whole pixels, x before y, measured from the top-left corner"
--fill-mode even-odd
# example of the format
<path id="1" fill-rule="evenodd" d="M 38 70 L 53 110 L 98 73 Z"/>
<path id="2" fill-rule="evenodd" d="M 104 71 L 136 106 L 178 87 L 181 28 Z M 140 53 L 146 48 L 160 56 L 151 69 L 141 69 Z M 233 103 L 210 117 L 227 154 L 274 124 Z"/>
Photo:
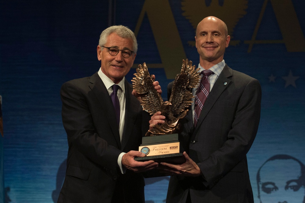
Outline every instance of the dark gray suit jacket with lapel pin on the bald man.
<path id="1" fill-rule="evenodd" d="M 168 93 L 171 93 L 168 86 Z M 225 65 L 200 113 L 182 121 L 179 140 L 203 176 L 171 176 L 167 202 L 253 202 L 246 154 L 260 120 L 258 80 Z"/>

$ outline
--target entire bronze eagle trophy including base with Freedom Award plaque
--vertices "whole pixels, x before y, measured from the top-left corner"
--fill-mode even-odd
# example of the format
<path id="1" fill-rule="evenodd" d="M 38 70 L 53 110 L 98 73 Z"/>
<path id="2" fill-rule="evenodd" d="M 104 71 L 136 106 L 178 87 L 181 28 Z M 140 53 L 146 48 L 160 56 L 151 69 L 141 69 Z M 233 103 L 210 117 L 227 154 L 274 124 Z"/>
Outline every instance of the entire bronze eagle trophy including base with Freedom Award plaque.
<path id="1" fill-rule="evenodd" d="M 137 161 L 154 160 L 156 162 L 169 162 L 181 164 L 185 158 L 180 153 L 180 143 L 177 131 L 179 120 L 188 113 L 194 97 L 191 88 L 197 87 L 200 75 L 192 61 L 183 60 L 181 72 L 177 74 L 172 87 L 169 101 L 163 102 L 161 95 L 153 86 L 154 79 L 149 75 L 145 62 L 136 69 L 135 77 L 131 80 L 134 90 L 142 97 L 143 110 L 151 115 L 160 111 L 165 116 L 165 122 L 155 125 L 142 138 L 139 151 L 146 157 L 135 158 Z"/>

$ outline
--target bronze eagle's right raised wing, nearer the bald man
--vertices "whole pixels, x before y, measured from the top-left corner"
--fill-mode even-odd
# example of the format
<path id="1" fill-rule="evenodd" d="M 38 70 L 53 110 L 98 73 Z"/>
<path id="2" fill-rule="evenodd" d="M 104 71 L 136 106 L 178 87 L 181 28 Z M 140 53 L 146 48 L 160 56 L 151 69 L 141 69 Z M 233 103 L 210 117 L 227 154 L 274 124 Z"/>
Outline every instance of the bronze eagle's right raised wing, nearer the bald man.
<path id="1" fill-rule="evenodd" d="M 188 59 L 182 61 L 182 69 L 180 74 L 175 78 L 172 93 L 169 102 L 171 103 L 171 112 L 176 115 L 185 111 L 192 104 L 194 97 L 191 88 L 196 87 L 200 82 L 200 75 L 196 66 L 192 66 L 192 61 Z"/>

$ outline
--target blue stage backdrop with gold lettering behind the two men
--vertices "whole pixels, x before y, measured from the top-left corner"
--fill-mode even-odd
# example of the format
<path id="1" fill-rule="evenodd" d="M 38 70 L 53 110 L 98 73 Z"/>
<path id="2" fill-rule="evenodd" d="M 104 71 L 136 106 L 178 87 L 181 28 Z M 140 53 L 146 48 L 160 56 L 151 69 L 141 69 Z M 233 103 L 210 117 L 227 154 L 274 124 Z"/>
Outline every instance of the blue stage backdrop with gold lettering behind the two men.
<path id="1" fill-rule="evenodd" d="M 272 202 L 278 197 L 281 199 L 276 202 L 302 202 L 305 1 L 110 2 L 0 2 L 4 129 L 4 137 L 0 137 L 0 151 L 4 152 L 0 163 L 3 161 L 4 166 L 0 169 L 4 168 L 1 173 L 5 184 L 0 187 L 4 190 L 0 194 L 5 193 L 6 202 L 56 201 L 68 149 L 59 90 L 65 81 L 98 71 L 96 47 L 102 30 L 109 24 L 122 24 L 135 32 L 138 54 L 134 68 L 145 62 L 160 81 L 166 99 L 167 84 L 179 73 L 182 59 L 198 66 L 195 29 L 200 20 L 210 15 L 228 25 L 231 42 L 225 62 L 257 78 L 262 86 L 260 126 L 247 155 L 255 202 Z M 133 73 L 135 69 L 127 75 L 129 81 Z M 274 184 L 257 187 L 267 178 Z M 146 201 L 163 202 L 168 180 L 146 179 Z"/>

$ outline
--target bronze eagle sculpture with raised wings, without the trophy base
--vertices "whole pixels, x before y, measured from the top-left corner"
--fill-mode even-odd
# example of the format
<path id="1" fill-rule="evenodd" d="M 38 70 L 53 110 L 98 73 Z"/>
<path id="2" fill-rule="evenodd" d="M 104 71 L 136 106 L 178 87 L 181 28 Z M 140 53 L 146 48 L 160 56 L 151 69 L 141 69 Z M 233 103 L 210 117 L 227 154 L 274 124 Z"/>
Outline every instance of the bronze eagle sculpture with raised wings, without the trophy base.
<path id="1" fill-rule="evenodd" d="M 135 91 L 141 94 L 143 110 L 151 115 L 160 111 L 166 117 L 165 123 L 155 125 L 145 136 L 172 134 L 179 129 L 178 121 L 186 116 L 187 108 L 192 104 L 194 97 L 190 89 L 196 87 L 201 79 L 199 69 L 195 68 L 196 66 L 192 66 L 192 61 L 188 59 L 182 61 L 181 72 L 174 80 L 170 99 L 163 102 L 161 95 L 152 84 L 154 79 L 149 74 L 146 64 L 138 66 L 137 73 L 134 73 L 136 77 L 131 81 Z"/>

